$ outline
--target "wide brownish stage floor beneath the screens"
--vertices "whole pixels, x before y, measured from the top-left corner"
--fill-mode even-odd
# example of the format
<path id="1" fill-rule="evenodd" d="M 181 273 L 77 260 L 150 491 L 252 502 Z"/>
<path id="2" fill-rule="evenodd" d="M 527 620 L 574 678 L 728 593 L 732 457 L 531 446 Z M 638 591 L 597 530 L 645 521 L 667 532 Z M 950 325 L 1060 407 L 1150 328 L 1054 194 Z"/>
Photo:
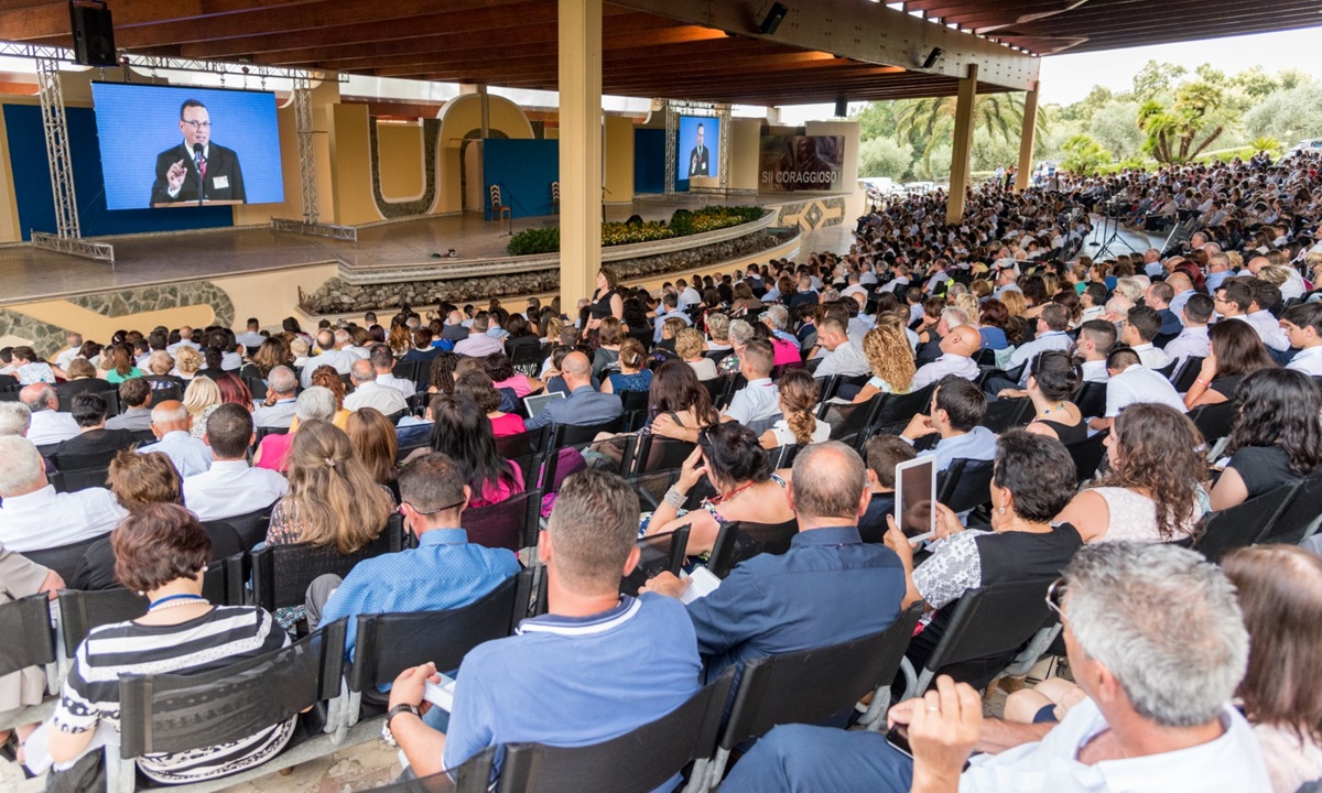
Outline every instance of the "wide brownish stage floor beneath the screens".
<path id="1" fill-rule="evenodd" d="M 804 198 L 764 194 L 728 202 L 773 205 Z M 624 221 L 639 214 L 648 221 L 669 219 L 676 209 L 703 204 L 687 196 L 644 198 L 607 205 L 605 218 Z M 514 218 L 514 231 L 558 222 L 558 215 Z M 114 270 L 104 262 L 12 245 L 0 247 L 0 305 L 316 264 L 434 266 L 432 254 L 444 256 L 449 248 L 457 254 L 451 262 L 472 264 L 506 255 L 508 227 L 508 221 L 463 213 L 360 226 L 357 243 L 272 231 L 266 226 L 97 238 L 115 246 Z"/>

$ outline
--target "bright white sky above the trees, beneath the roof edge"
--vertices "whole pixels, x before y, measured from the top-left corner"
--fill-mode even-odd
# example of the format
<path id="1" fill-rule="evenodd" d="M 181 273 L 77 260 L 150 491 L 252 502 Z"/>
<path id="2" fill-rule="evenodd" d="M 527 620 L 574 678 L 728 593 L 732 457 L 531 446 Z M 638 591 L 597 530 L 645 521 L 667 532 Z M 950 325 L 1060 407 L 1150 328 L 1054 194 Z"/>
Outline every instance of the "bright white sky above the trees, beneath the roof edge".
<path id="1" fill-rule="evenodd" d="M 1087 96 L 1096 85 L 1107 86 L 1112 91 L 1128 91 L 1133 86 L 1134 74 L 1153 59 L 1178 63 L 1190 71 L 1195 66 L 1210 63 L 1227 74 L 1255 65 L 1268 73 L 1298 69 L 1322 79 L 1322 58 L 1315 54 L 1319 44 L 1322 44 L 1322 28 L 1306 28 L 1077 56 L 1051 56 L 1042 59 L 1042 94 L 1038 100 L 1069 104 Z M 849 110 L 853 112 L 862 106 L 851 102 Z M 785 124 L 825 120 L 832 118 L 834 107 L 834 104 L 783 107 L 781 120 Z"/>

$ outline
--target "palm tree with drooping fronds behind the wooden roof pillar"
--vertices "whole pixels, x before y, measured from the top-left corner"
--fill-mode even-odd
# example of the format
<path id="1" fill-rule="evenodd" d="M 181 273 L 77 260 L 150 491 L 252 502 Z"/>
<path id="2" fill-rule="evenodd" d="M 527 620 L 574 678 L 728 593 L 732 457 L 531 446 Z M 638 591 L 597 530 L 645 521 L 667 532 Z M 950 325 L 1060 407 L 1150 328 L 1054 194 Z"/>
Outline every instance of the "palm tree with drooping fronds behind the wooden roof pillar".
<path id="1" fill-rule="evenodd" d="M 980 94 L 973 98 L 973 127 L 992 137 L 1015 143 L 1023 127 L 1023 94 Z M 903 99 L 895 114 L 895 136 L 920 147 L 923 168 L 932 172 L 932 152 L 954 135 L 956 96 Z M 1047 118 L 1038 110 L 1038 135 L 1047 131 Z"/>

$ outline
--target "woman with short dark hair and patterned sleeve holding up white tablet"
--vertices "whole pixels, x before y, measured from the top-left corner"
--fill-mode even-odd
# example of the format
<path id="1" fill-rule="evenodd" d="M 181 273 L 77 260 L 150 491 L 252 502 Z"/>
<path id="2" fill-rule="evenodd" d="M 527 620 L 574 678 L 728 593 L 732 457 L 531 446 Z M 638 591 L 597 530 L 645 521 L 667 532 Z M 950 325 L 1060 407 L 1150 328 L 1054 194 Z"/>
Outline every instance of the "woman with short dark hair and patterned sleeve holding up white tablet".
<path id="1" fill-rule="evenodd" d="M 937 504 L 932 555 L 917 568 L 910 539 L 887 515 L 886 545 L 904 564 L 904 607 L 921 601 L 936 612 L 910 642 L 906 657 L 921 670 L 941 640 L 960 597 L 988 584 L 1050 580 L 1060 575 L 1083 538 L 1067 521 L 1054 519 L 1075 492 L 1069 452 L 1055 439 L 1011 430 L 997 441 L 992 473 L 990 531 L 968 529 Z M 992 657 L 947 665 L 940 671 L 974 689 L 985 687 L 1018 648 Z"/>

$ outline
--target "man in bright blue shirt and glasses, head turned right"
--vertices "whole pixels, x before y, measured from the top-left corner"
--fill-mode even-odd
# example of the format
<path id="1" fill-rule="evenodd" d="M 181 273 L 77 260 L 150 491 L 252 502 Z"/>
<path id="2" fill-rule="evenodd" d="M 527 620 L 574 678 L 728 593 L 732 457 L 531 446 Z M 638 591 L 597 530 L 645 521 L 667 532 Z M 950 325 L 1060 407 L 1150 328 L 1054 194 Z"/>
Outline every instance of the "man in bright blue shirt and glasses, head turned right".
<path id="1" fill-rule="evenodd" d="M 358 615 L 446 611 L 481 600 L 520 571 L 505 548 L 468 542 L 460 518 L 472 489 L 453 460 L 430 453 L 399 474 L 399 511 L 418 537 L 418 547 L 354 566 L 341 582 L 323 575 L 308 587 L 308 626 L 349 617 L 345 649 L 357 641 Z"/>

